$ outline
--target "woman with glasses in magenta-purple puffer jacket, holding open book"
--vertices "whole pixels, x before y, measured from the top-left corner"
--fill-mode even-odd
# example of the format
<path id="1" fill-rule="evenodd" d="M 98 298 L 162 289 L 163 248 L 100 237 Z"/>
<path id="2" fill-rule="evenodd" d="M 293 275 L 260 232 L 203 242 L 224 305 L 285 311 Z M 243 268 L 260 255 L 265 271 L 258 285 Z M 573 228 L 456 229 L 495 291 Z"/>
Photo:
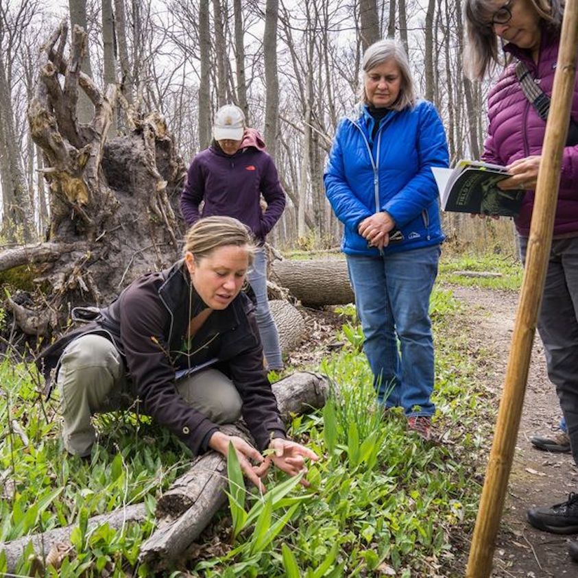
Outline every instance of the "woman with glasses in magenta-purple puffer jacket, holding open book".
<path id="1" fill-rule="evenodd" d="M 562 6 L 559 0 L 466 0 L 469 56 L 473 77 L 502 59 L 505 70 L 488 96 L 490 125 L 483 159 L 506 165 L 511 178 L 503 189 L 527 189 L 516 230 L 522 261 L 525 258 L 534 202 L 534 189 L 544 142 L 545 122 L 525 97 L 516 77 L 523 62 L 549 97 L 560 40 Z M 578 121 L 578 77 L 571 109 Z M 570 119 L 568 119 L 570 121 Z M 562 158 L 559 196 L 538 330 L 544 342 L 548 374 L 556 385 L 568 426 L 570 446 L 578 463 L 578 143 L 566 143 Z M 554 533 L 578 532 L 578 494 L 552 507 L 533 508 L 529 522 Z M 570 544 L 578 560 L 578 542 Z"/>

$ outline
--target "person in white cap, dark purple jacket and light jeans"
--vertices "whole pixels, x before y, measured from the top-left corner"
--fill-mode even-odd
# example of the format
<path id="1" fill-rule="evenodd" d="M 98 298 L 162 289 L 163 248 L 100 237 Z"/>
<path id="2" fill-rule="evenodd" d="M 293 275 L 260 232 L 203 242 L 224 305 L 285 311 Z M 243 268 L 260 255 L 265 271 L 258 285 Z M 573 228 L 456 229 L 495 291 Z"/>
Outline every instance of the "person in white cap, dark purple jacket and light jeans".
<path id="1" fill-rule="evenodd" d="M 180 206 L 187 225 L 201 216 L 235 217 L 248 226 L 258 245 L 247 279 L 256 298 L 256 320 L 269 370 L 283 367 L 279 336 L 267 302 L 267 233 L 285 208 L 285 191 L 261 135 L 245 127 L 243 111 L 232 104 L 215 115 L 213 144 L 193 158 Z M 261 194 L 267 202 L 263 212 Z M 199 209 L 204 201 L 202 212 Z"/>

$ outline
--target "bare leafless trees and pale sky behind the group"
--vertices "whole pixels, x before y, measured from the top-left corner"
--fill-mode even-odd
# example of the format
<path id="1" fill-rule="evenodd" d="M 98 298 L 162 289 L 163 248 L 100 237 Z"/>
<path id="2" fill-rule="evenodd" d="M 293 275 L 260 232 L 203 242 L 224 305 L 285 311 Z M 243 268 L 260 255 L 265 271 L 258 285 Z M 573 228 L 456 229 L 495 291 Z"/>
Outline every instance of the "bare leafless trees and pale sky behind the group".
<path id="1" fill-rule="evenodd" d="M 269 241 L 280 248 L 328 248 L 341 234 L 322 174 L 339 118 L 359 91 L 363 50 L 402 40 L 421 94 L 435 103 L 452 162 L 479 158 L 487 83 L 463 75 L 457 0 L 0 0 L 0 245 L 47 238 L 45 158 L 27 106 L 40 47 L 62 19 L 88 32 L 82 70 L 104 92 L 119 84 L 129 104 L 158 111 L 188 166 L 211 138 L 222 104 L 238 104 L 274 156 L 288 206 Z M 78 120 L 93 117 L 80 94 Z M 120 106 L 109 137 L 127 132 Z M 511 245 L 509 221 L 444 215 L 460 248 Z"/>

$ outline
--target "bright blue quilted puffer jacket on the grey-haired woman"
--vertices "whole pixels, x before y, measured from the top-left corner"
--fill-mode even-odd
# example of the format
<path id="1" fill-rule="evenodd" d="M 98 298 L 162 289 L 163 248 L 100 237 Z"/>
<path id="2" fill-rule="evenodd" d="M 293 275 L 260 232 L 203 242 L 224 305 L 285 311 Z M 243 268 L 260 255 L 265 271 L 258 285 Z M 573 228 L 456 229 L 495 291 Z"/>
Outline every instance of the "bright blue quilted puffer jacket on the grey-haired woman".
<path id="1" fill-rule="evenodd" d="M 341 250 L 379 254 L 357 232 L 359 223 L 387 211 L 402 233 L 384 253 L 408 251 L 444 240 L 438 193 L 431 167 L 448 166 L 448 146 L 437 110 L 420 100 L 392 110 L 372 139 L 374 119 L 366 106 L 341 120 L 324 173 L 326 195 L 345 225 Z"/>

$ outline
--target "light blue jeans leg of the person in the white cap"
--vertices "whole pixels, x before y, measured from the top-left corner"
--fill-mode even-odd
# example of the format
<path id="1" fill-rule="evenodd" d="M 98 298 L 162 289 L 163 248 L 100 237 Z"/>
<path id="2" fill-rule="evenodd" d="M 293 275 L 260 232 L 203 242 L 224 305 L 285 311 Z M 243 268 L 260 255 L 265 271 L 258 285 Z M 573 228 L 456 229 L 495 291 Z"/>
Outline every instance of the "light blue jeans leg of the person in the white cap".
<path id="1" fill-rule="evenodd" d="M 269 311 L 267 300 L 267 255 L 263 247 L 257 248 L 252 267 L 247 274 L 253 293 L 257 300 L 255 317 L 263 344 L 263 354 L 267 360 L 267 369 L 280 370 L 283 367 L 281 348 L 279 346 L 279 334 L 277 326 Z"/>

